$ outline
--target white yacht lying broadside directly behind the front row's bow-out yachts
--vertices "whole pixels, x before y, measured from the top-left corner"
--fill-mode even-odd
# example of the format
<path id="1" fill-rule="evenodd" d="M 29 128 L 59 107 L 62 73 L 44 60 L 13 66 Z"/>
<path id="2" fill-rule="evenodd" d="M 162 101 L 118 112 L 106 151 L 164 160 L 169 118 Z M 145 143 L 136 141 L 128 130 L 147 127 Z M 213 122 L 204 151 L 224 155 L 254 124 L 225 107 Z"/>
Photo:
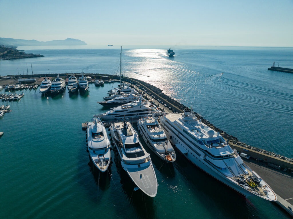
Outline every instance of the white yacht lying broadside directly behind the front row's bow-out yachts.
<path id="1" fill-rule="evenodd" d="M 154 114 L 154 116 L 163 115 L 163 112 L 159 110 L 158 107 L 149 102 L 142 101 L 142 97 L 140 96 L 139 100 L 137 101 L 111 108 L 110 111 L 106 113 L 101 113 L 94 116 L 100 117 L 100 119 L 104 121 L 120 120 L 124 116 L 126 118 L 131 118 L 132 120 L 138 120 L 147 113 Z"/>

